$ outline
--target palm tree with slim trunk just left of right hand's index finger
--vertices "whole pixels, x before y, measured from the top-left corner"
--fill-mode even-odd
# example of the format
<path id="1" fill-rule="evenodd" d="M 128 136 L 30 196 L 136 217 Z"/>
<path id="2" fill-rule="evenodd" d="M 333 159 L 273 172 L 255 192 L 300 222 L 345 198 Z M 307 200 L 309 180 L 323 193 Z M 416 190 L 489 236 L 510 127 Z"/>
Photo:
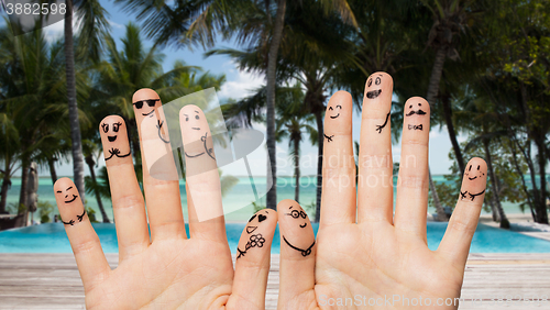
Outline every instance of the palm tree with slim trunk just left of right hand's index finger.
<path id="1" fill-rule="evenodd" d="M 301 110 L 314 114 L 318 132 L 317 214 L 320 214 L 322 185 L 322 142 L 326 91 L 337 87 L 338 77 L 349 67 L 358 66 L 346 41 L 350 26 L 340 16 L 323 16 L 323 8 L 312 1 L 295 3 L 287 11 L 286 27 L 278 60 L 278 80 L 295 79 L 306 88 Z M 258 42 L 244 51 L 212 49 L 206 55 L 232 57 L 240 69 L 265 73 L 263 45 Z"/>

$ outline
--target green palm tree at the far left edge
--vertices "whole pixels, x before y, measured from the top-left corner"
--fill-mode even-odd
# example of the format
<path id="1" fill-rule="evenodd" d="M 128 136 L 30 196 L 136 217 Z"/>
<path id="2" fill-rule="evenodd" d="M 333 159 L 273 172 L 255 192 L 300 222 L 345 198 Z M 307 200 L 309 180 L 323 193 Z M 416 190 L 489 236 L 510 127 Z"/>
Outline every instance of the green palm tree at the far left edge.
<path id="1" fill-rule="evenodd" d="M 40 30 L 13 37 L 9 29 L 0 31 L 0 44 L 4 62 L 0 75 L 2 87 L 0 107 L 11 120 L 9 128 L 16 128 L 19 140 L 11 144 L 19 146 L 19 150 L 8 150 L 4 153 L 8 165 L 4 184 L 6 178 L 12 173 L 9 165 L 20 160 L 22 168 L 20 207 L 24 207 L 30 163 L 45 156 L 45 153 L 52 150 L 48 142 L 55 134 L 53 129 L 66 124 L 61 119 L 64 110 L 62 107 L 66 107 L 63 103 L 65 80 L 51 78 L 63 76 L 63 45 L 61 42 L 48 45 Z M 11 136 L 14 137 L 15 134 Z M 9 142 L 8 145 L 10 146 Z M 26 223 L 25 210 L 26 208 L 20 208 L 23 214 L 20 225 Z"/>

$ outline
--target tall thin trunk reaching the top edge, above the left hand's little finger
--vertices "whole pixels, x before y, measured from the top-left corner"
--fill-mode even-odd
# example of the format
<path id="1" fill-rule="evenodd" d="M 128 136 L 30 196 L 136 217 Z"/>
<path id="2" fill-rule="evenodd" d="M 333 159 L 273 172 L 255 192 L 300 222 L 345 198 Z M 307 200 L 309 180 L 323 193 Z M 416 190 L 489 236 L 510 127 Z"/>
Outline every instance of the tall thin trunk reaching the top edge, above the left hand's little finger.
<path id="1" fill-rule="evenodd" d="M 70 122 L 70 140 L 73 146 L 73 174 L 76 188 L 80 193 L 82 203 L 85 201 L 84 188 L 84 156 L 82 141 L 80 136 L 80 123 L 78 121 L 78 106 L 76 102 L 76 78 L 75 78 L 75 51 L 73 45 L 73 0 L 65 1 L 67 10 L 65 13 L 65 74 L 67 78 L 67 101 Z"/>

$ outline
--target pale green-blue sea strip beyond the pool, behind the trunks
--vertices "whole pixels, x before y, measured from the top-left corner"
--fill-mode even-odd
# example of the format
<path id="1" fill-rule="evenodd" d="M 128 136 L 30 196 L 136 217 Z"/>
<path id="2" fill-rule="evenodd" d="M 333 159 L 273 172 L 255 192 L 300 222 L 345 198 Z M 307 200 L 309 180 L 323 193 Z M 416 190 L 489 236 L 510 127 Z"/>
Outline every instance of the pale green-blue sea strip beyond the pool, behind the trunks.
<path id="1" fill-rule="evenodd" d="M 249 218 L 254 213 L 254 206 L 252 202 L 255 200 L 254 196 L 251 193 L 251 186 L 248 177 L 239 177 L 239 182 L 232 187 L 229 192 L 222 198 L 223 207 L 226 210 L 226 221 L 228 222 L 243 222 L 248 221 Z M 435 181 L 446 181 L 444 176 L 433 176 Z M 256 177 L 254 179 L 255 186 L 260 192 L 265 191 L 266 178 Z M 394 180 L 395 182 L 396 180 Z M 185 193 L 185 182 L 180 180 L 179 190 L 182 195 L 182 204 L 184 214 L 187 218 L 187 198 Z M 8 192 L 8 204 L 16 203 L 19 201 L 19 191 L 21 188 L 21 179 L 13 178 L 12 186 Z M 277 178 L 277 200 L 283 199 L 294 199 L 295 195 L 295 179 L 294 177 L 279 177 Z M 396 197 L 396 191 L 394 189 L 394 201 Z M 55 204 L 54 189 L 52 185 L 52 179 L 50 177 L 40 178 L 38 181 L 38 201 L 47 201 Z M 316 178 L 314 176 L 305 176 L 300 178 L 300 199 L 299 202 L 304 207 L 304 209 L 308 212 L 308 214 L 312 214 L 315 211 L 315 201 L 316 201 Z M 101 221 L 101 213 L 98 208 L 97 200 L 94 195 L 86 195 L 87 207 L 92 208 L 96 211 L 96 215 L 98 221 Z M 109 219 L 112 221 L 112 204 L 110 200 L 102 199 L 103 207 L 106 208 L 106 212 Z M 265 197 L 258 199 L 255 202 L 256 206 L 265 206 Z M 505 212 L 508 214 L 513 213 L 522 213 L 519 209 L 518 203 L 512 203 L 507 201 L 503 201 L 503 207 Z M 429 208 L 430 213 L 435 213 L 435 208 Z M 528 212 L 528 210 L 527 210 Z M 51 213 L 51 219 L 53 219 L 53 214 L 58 214 L 57 208 Z M 35 214 L 34 219 L 38 220 L 38 215 Z"/>

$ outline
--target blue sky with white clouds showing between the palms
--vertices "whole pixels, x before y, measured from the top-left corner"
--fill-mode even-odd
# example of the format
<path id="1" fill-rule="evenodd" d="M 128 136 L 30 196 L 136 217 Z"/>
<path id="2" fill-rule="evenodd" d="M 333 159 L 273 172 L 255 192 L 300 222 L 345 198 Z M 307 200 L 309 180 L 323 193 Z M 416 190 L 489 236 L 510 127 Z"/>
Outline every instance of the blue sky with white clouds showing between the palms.
<path id="1" fill-rule="evenodd" d="M 111 34 L 117 40 L 118 45 L 120 46 L 120 38 L 124 35 L 125 24 L 129 22 L 136 22 L 134 15 L 123 12 L 120 5 L 116 5 L 112 1 L 101 1 L 101 4 L 106 8 L 107 12 L 109 12 L 109 22 L 111 24 Z M 3 22 L 2 22 L 3 23 Z M 51 41 L 55 41 L 63 36 L 63 26 L 64 23 L 58 22 L 53 25 L 45 27 L 45 33 Z M 152 41 L 145 40 L 145 46 L 152 46 Z M 234 47 L 235 44 L 233 42 L 217 42 L 216 46 L 218 48 L 221 47 Z M 163 67 L 165 70 L 169 70 L 176 60 L 184 60 L 187 65 L 199 66 L 205 71 L 210 71 L 215 75 L 224 74 L 227 77 L 227 82 L 221 87 L 221 90 L 218 92 L 218 97 L 220 101 L 226 99 L 241 99 L 252 93 L 253 89 L 265 84 L 265 77 L 263 75 L 251 74 L 246 71 L 241 71 L 237 68 L 233 62 L 228 56 L 211 56 L 205 58 L 204 53 L 206 51 L 202 48 L 194 47 L 193 51 L 188 48 L 176 49 L 173 47 L 167 47 L 162 51 L 165 54 L 165 59 Z M 365 78 L 366 81 L 366 78 Z M 418 93 L 417 96 L 424 96 L 422 93 Z M 360 128 L 361 128 L 361 114 L 354 111 L 353 115 L 353 140 L 359 141 L 360 139 Z M 260 130 L 265 133 L 265 125 L 255 124 L 254 129 Z M 459 136 L 459 142 L 464 141 L 464 136 Z M 438 129 L 435 128 L 430 132 L 430 168 L 431 173 L 435 175 L 449 174 L 450 166 L 452 162 L 449 159 L 449 151 L 451 151 L 451 142 L 449 140 L 449 134 L 446 128 Z M 258 150 L 265 150 L 265 145 L 261 145 Z M 288 141 L 284 141 L 277 144 L 277 158 L 278 165 L 277 169 L 278 176 L 292 176 L 293 175 L 293 166 L 288 160 Z M 392 150 L 394 162 L 399 160 L 400 156 L 400 145 L 399 143 L 393 145 Z M 316 156 L 317 156 L 317 147 L 311 146 L 309 142 L 305 141 L 301 145 L 301 155 L 302 159 L 300 162 L 301 166 L 301 175 L 315 175 L 316 167 Z M 468 158 L 466 158 L 468 159 Z M 265 166 L 265 152 L 254 152 L 249 156 L 249 162 L 251 166 L 257 167 L 258 175 L 263 175 L 265 173 L 265 168 L 261 168 Z M 99 160 L 99 165 L 105 165 L 105 160 L 101 158 Z M 57 165 L 57 175 L 58 176 L 72 176 L 73 175 L 73 166 L 70 163 L 58 163 Z M 242 168 L 231 168 L 226 167 L 228 169 L 227 174 L 233 175 L 243 175 Z M 86 168 L 86 174 L 88 175 L 88 168 Z M 41 176 L 48 175 L 46 169 L 41 171 Z"/>

